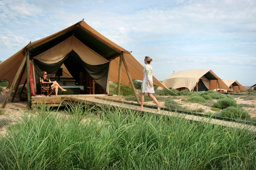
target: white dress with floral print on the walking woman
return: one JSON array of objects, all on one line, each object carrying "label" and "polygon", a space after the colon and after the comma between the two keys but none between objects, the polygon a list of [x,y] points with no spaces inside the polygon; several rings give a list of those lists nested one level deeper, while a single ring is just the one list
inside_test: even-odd
[{"label": "white dress with floral print on the walking woman", "polygon": [[141,84],[141,93],[155,93],[154,88],[149,86],[148,80],[153,86],[153,69],[150,64],[146,64],[143,69],[143,82]]}]

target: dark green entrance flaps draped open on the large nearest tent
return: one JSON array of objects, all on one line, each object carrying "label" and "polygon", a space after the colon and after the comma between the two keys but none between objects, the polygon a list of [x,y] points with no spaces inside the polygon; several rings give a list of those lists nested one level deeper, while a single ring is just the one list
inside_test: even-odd
[{"label": "dark green entrance flaps draped open on the large nearest tent", "polygon": [[77,84],[84,86],[84,94],[88,94],[87,87],[90,87],[90,82],[92,80],[99,85],[98,93],[106,93],[109,62],[100,65],[89,65],[85,63],[73,50],[62,60],[53,64],[46,64],[34,59],[37,91],[40,91],[38,88],[40,88],[39,77],[42,76],[41,72],[47,71],[48,77],[52,77],[59,70],[62,64],[66,66],[68,72],[74,80],[76,80]]}]

